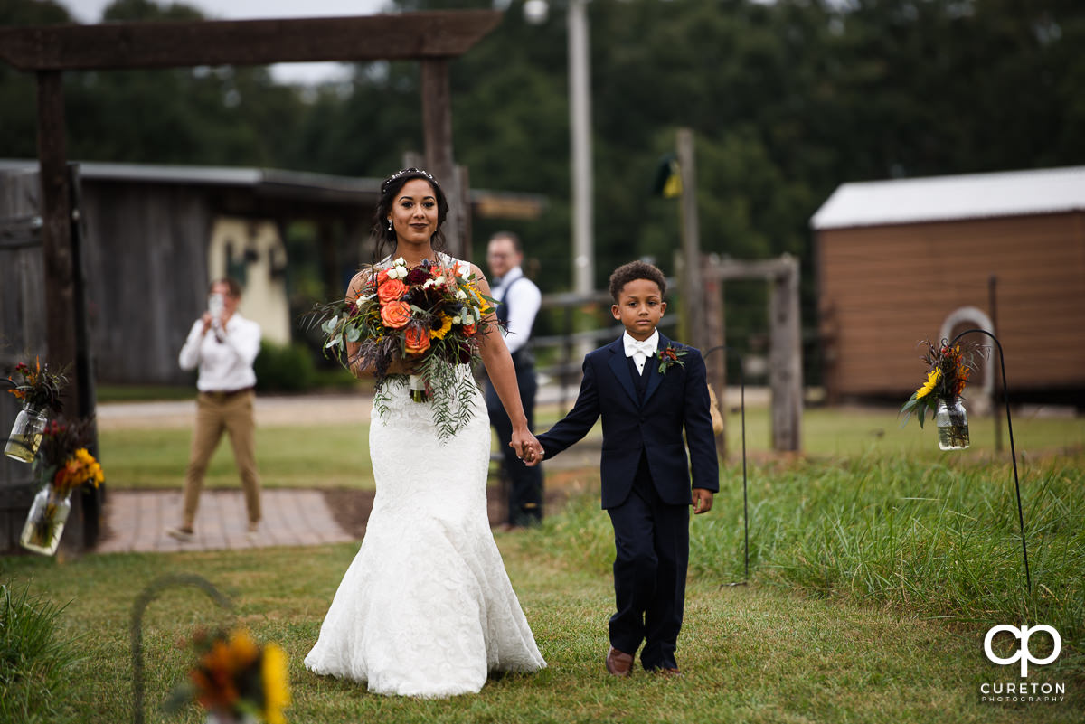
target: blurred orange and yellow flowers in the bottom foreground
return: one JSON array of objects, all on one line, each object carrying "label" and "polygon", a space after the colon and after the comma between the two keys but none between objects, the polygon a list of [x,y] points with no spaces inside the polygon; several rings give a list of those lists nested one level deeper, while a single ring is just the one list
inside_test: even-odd
[{"label": "blurred orange and yellow flowers in the bottom foreground", "polygon": [[282,648],[260,646],[243,630],[197,631],[191,643],[200,659],[166,702],[167,711],[195,699],[210,712],[208,721],[284,724],[290,681]]}]

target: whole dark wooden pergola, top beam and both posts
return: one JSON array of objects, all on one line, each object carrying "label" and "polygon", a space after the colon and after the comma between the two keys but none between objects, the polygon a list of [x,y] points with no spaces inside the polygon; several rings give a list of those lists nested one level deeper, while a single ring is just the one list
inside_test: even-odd
[{"label": "whole dark wooden pergola, top beam and both posts", "polygon": [[255,21],[104,23],[0,28],[0,60],[38,81],[41,241],[46,268],[47,348],[56,364],[76,361],[71,395],[80,415],[93,412],[89,370],[80,360],[77,314],[78,248],[73,248],[72,182],[67,170],[65,70],[110,70],[282,62],[416,60],[422,65],[423,150],[451,210],[446,237],[460,254],[463,209],[452,156],[449,61],[501,20],[497,11],[446,11]]}]

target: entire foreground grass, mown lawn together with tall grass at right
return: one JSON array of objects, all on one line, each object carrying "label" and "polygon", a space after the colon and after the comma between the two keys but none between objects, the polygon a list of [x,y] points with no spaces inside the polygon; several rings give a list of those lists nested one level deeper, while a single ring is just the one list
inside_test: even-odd
[{"label": "entire foreground grass, mown lawn together with tall grass at right", "polygon": [[[354,431],[356,435],[357,431]],[[296,450],[296,449],[295,449]],[[285,453],[283,453],[285,454]],[[295,452],[295,456],[301,453]],[[131,719],[128,626],[156,577],[196,572],[237,603],[235,622],[290,655],[293,722],[1082,722],[1085,721],[1085,453],[1022,463],[1033,591],[1025,591],[1005,462],[910,454],[787,460],[750,469],[751,579],[743,577],[741,468],[725,468],[712,513],[691,523],[682,680],[607,676],[612,540],[589,492],[539,529],[498,534],[549,668],[490,681],[478,696],[385,698],[302,664],[357,546],[0,559],[0,583],[66,608],[60,633],[80,660],[53,722]],[[405,574],[409,574],[406,571]],[[194,590],[163,592],[144,620],[146,691],[183,675],[176,642],[227,620]],[[1065,683],[1057,704],[981,703],[983,682],[1014,682],[982,654],[995,623],[1062,635],[1030,682]],[[1044,642],[1034,639],[1035,656]],[[1000,651],[1006,656],[1008,651]],[[1012,671],[1011,671],[1012,670]],[[2,677],[0,677],[2,678]],[[151,722],[201,722],[190,709]]]}]

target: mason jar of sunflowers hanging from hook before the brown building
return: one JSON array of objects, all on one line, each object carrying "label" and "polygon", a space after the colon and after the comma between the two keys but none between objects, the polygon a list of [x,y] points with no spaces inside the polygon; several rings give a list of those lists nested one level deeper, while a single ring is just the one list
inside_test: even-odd
[{"label": "mason jar of sunflowers hanging from hook before the brown building", "polygon": [[939,345],[930,339],[920,345],[927,346],[920,357],[928,366],[927,382],[901,406],[904,415],[901,424],[907,424],[915,413],[921,428],[924,416],[930,413],[939,430],[939,448],[965,450],[969,447],[968,414],[961,392],[968,376],[975,370],[975,359],[984,357],[987,348],[978,342],[950,345],[945,339]]}]

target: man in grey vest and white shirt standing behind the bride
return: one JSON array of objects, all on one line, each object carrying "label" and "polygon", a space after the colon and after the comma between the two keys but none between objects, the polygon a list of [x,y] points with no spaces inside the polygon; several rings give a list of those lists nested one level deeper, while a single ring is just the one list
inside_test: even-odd
[{"label": "man in grey vest and white shirt standing behind the bride", "polygon": [[[535,392],[538,383],[535,378],[535,359],[528,342],[542,295],[539,288],[524,276],[520,268],[523,259],[524,253],[519,236],[502,231],[490,237],[486,247],[486,264],[493,275],[492,295],[498,301],[497,319],[502,324],[505,344],[509,347],[516,369],[520,401],[524,405],[524,414],[527,415],[527,427],[534,430]],[[509,441],[512,439],[512,423],[489,382],[486,383],[486,408],[489,411],[489,424],[497,431],[505,454],[505,468],[509,480],[509,519],[502,527],[512,529],[537,523],[542,519],[542,468],[538,465],[525,466],[516,458],[515,451],[509,447]]]}]

